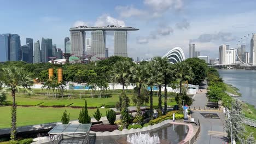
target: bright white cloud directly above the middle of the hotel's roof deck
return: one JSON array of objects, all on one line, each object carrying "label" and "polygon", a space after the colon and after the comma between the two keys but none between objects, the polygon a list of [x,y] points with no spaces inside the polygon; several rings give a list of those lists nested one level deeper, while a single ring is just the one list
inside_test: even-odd
[{"label": "bright white cloud directly above the middle of the hotel's roof deck", "polygon": [[103,14],[98,17],[95,26],[107,26],[107,25],[115,25],[115,26],[125,26],[125,22],[122,20],[115,19],[107,14]]}]

